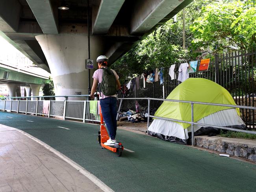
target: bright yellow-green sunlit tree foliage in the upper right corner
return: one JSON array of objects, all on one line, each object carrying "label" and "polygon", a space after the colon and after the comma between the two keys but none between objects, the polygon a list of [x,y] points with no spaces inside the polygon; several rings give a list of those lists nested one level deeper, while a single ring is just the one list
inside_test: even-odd
[{"label": "bright yellow-green sunlit tree foliage in the upper right corner", "polygon": [[230,45],[247,50],[255,46],[256,9],[254,0],[218,0],[202,7],[202,15],[190,26],[193,49],[207,48],[217,52]]}]

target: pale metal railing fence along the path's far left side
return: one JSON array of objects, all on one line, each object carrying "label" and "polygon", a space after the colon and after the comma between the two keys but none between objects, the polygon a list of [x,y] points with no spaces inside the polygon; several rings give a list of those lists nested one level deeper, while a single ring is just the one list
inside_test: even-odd
[{"label": "pale metal railing fence along the path's far left side", "polygon": [[[55,96],[44,96],[55,97]],[[83,122],[100,122],[98,111],[90,113],[90,102],[88,95],[58,96],[65,100],[28,100],[33,97],[12,97],[11,99],[27,100],[0,100],[0,110],[34,115],[44,115],[48,117],[58,117],[65,119],[83,120]],[[69,97],[85,97],[83,101],[69,101]],[[39,97],[34,97],[39,98]],[[5,98],[10,99],[10,98]]]}]

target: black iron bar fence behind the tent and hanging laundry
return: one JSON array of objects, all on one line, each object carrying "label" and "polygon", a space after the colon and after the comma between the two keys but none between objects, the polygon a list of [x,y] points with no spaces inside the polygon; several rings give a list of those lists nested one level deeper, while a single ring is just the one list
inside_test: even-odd
[{"label": "black iron bar fence behind the tent and hanging laundry", "polygon": [[[200,63],[198,63],[198,66]],[[198,67],[197,66],[197,67]],[[139,80],[139,87],[135,87],[130,91],[126,98],[160,98],[165,99],[180,82],[177,79],[171,79],[168,74],[169,69],[165,69],[164,83],[160,85],[160,81],[154,83],[146,83],[143,87],[143,79]],[[178,77],[178,72],[176,72]],[[215,81],[225,89],[227,89],[234,98],[237,105],[245,105],[254,107],[256,104],[256,51],[250,52],[229,52],[227,54],[215,55],[210,62],[207,71],[190,73],[189,78],[205,78]],[[118,98],[124,98],[121,92]],[[146,101],[138,101],[139,110],[147,108]],[[136,110],[136,100],[133,102],[124,100],[122,109]],[[151,108],[157,109],[162,101],[152,100]],[[247,126],[256,127],[256,113],[250,109],[240,109],[241,118]]]}]

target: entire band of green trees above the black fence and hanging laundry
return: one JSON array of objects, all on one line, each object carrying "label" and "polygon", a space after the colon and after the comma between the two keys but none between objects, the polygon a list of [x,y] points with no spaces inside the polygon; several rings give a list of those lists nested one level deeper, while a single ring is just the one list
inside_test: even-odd
[{"label": "entire band of green trees above the black fence and hanging laundry", "polygon": [[[121,82],[144,70],[198,59],[210,48],[207,58],[230,50],[256,46],[255,0],[194,0],[186,7],[186,49],[182,49],[182,11],[177,21],[167,21],[116,61],[112,67]],[[212,58],[213,59],[213,58]],[[211,59],[211,61],[213,61]]]}]

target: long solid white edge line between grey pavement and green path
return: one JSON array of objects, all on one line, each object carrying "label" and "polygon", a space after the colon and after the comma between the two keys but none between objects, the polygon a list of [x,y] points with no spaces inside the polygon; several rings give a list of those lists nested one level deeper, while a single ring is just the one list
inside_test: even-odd
[{"label": "long solid white edge line between grey pavement and green path", "polygon": [[[13,128],[13,127],[12,127]],[[13,128],[15,129],[15,128]],[[35,142],[41,144],[42,146],[44,146],[46,149],[48,149],[49,151],[51,151],[52,153],[54,153],[55,155],[58,155],[58,157],[60,157],[61,159],[63,159],[64,161],[66,161],[67,163],[69,163],[72,167],[74,167],[76,170],[78,170],[81,174],[85,175],[85,177],[87,177],[88,179],[90,179],[93,183],[95,183],[95,185],[97,185],[99,188],[101,188],[104,192],[114,192],[111,188],[109,188],[109,186],[107,186],[105,183],[103,183],[102,181],[100,181],[100,179],[98,179],[97,177],[95,177],[95,175],[91,174],[90,172],[88,172],[87,170],[85,170],[85,168],[83,168],[82,166],[80,166],[79,164],[77,164],[76,162],[72,161],[71,159],[69,159],[69,157],[63,155],[61,152],[55,150],[54,148],[50,147],[49,145],[47,145],[46,143],[44,143],[43,141],[33,137],[32,135],[21,131],[19,129],[16,129],[17,131],[19,131],[20,133],[26,135],[28,138],[33,139]]]}]

